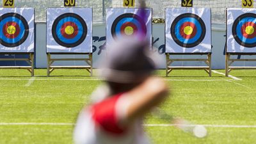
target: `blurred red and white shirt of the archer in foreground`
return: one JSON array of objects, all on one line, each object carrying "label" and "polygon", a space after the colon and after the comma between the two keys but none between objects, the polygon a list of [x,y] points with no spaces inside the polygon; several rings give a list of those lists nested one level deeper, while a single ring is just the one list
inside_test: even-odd
[{"label": "blurred red and white shirt of the archer in foreground", "polygon": [[121,127],[117,122],[116,103],[122,94],[108,97],[83,109],[74,130],[76,144],[149,144],[140,119]]}]

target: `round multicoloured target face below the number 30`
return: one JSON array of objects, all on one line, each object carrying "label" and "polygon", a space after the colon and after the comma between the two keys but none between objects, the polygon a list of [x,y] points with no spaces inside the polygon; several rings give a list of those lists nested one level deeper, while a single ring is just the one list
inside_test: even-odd
[{"label": "round multicoloured target face below the number 30", "polygon": [[86,35],[86,22],[76,13],[64,13],[57,17],[52,24],[52,37],[63,47],[80,45]]}]

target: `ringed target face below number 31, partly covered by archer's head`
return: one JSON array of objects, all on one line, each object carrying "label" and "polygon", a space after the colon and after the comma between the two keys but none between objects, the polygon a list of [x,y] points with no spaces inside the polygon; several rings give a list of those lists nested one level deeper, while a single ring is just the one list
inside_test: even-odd
[{"label": "ringed target face below number 31, partly covered by archer's head", "polygon": [[113,38],[118,39],[122,36],[143,36],[147,35],[147,26],[140,16],[134,13],[125,13],[117,17],[111,27]]}]

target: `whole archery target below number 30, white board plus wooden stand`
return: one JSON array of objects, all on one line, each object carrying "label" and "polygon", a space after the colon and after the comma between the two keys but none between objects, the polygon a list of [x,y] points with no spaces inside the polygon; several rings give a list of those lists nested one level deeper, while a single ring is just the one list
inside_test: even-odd
[{"label": "whole archery target below number 30, white board plus wooden stand", "polygon": [[[82,58],[52,58],[74,54]],[[85,61],[88,65],[55,66],[54,61]],[[47,8],[47,76],[55,69],[92,70],[92,8]]]}]

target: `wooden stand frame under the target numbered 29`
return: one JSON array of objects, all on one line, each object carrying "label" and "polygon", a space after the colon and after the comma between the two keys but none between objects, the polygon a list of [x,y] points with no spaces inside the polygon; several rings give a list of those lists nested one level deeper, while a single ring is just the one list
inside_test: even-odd
[{"label": "wooden stand frame under the target numbered 29", "polygon": [[24,54],[28,55],[29,58],[0,58],[0,61],[26,61],[29,66],[0,66],[1,69],[25,69],[28,70],[31,73],[31,76],[34,76],[34,53],[3,53],[1,52],[0,54]]}]

